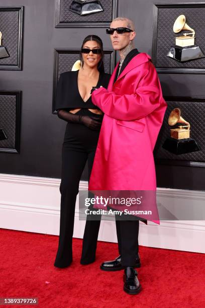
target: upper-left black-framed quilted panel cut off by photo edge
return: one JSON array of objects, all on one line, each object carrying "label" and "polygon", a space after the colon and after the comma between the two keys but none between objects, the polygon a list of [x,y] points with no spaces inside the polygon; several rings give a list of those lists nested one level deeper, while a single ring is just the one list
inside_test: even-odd
[{"label": "upper-left black-framed quilted panel cut off by photo edge", "polygon": [[0,7],[0,70],[22,70],[24,7]]}]

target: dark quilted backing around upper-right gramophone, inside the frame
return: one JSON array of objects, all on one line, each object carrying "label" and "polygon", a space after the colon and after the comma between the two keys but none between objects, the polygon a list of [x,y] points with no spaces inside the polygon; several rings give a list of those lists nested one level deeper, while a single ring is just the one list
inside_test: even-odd
[{"label": "dark quilted backing around upper-right gramophone, inside the frame", "polygon": [[158,8],[156,67],[204,68],[205,58],[178,62],[166,56],[170,47],[175,45],[175,37],[180,33],[173,32],[173,24],[179,15],[185,15],[186,23],[195,30],[195,45],[205,54],[205,5],[201,8]]}]

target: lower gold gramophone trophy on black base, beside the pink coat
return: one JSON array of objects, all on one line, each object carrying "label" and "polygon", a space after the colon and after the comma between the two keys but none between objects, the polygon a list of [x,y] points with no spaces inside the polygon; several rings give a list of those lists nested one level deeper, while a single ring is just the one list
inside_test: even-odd
[{"label": "lower gold gramophone trophy on black base, beside the pink coat", "polygon": [[165,140],[162,147],[176,155],[199,151],[196,141],[190,138],[190,124],[181,117],[181,110],[174,108],[169,115],[168,124],[173,126],[177,123],[186,125],[170,129],[170,137]]}]

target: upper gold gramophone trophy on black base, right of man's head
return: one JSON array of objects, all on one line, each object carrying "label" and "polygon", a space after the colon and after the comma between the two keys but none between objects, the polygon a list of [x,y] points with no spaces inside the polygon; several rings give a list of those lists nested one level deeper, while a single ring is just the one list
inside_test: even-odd
[{"label": "upper gold gramophone trophy on black base, right of man's head", "polygon": [[203,58],[204,54],[200,47],[195,45],[195,31],[187,25],[184,15],[178,16],[173,26],[174,33],[179,33],[182,30],[190,32],[175,37],[175,46],[171,46],[167,56],[179,62]]}]

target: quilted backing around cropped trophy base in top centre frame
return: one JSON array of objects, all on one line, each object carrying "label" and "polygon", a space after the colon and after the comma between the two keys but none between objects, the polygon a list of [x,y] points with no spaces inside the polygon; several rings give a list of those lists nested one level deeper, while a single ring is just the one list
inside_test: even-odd
[{"label": "quilted backing around cropped trophy base in top centre frame", "polygon": [[69,11],[72,0],[60,1],[60,23],[110,23],[113,17],[113,5],[115,0],[100,0],[103,12],[80,16]]}]

